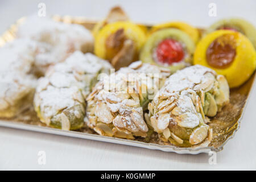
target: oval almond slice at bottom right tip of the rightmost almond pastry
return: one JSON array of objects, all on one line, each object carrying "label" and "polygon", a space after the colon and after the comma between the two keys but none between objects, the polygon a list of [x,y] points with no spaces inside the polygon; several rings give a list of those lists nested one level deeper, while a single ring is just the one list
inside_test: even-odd
[{"label": "oval almond slice at bottom right tip of the rightmost almond pastry", "polygon": [[201,126],[195,129],[189,137],[189,143],[198,144],[203,142],[208,135],[209,126]]}]

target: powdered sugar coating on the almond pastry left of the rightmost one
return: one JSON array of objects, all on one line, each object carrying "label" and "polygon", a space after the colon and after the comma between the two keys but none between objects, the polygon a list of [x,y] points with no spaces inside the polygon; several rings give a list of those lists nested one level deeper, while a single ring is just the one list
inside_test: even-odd
[{"label": "powdered sugar coating on the almond pastry left of the rightmost one", "polygon": [[[143,120],[142,104],[150,99],[147,98],[148,90],[158,89],[158,82],[155,82],[154,79],[164,80],[166,73],[162,73],[160,68],[155,65],[137,61],[129,67],[121,68],[105,77],[105,80],[97,84],[103,85],[104,89],[98,89],[96,85],[92,92],[94,96],[90,95],[89,97],[88,122],[95,118],[94,115],[98,113],[97,107],[93,109],[95,105],[104,103],[108,107],[107,110],[115,116],[113,119],[114,126],[110,126],[112,129],[118,129],[120,133],[124,132],[125,136],[135,134],[146,137],[148,127]],[[146,90],[142,90],[143,87]],[[89,123],[90,127],[96,127],[96,131],[98,131],[97,122],[101,122],[100,119]]]}]

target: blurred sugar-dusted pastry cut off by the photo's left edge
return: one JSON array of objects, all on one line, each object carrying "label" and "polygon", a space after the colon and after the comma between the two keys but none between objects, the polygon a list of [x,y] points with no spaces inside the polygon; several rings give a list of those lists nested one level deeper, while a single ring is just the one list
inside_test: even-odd
[{"label": "blurred sugar-dusted pastry cut off by the photo's left edge", "polygon": [[31,106],[36,78],[30,72],[36,43],[17,39],[0,48],[0,118],[13,118]]}]

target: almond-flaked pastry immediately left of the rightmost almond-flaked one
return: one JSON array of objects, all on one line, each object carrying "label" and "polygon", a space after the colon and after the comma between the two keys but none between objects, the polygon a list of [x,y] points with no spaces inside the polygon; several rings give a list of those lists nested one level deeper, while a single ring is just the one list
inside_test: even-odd
[{"label": "almond-flaked pastry immediately left of the rightmost almond-flaked one", "polygon": [[165,69],[137,61],[105,77],[86,98],[86,124],[100,135],[146,137],[143,110],[168,75]]}]

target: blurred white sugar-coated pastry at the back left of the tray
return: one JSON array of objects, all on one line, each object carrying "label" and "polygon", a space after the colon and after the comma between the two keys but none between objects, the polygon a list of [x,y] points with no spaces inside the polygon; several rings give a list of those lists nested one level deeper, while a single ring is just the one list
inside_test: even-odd
[{"label": "blurred white sugar-coated pastry at the back left of the tray", "polygon": [[65,24],[38,16],[29,16],[18,31],[17,38],[30,38],[40,45],[35,57],[35,72],[43,76],[49,65],[64,61],[76,50],[92,52],[94,38],[79,24]]}]

